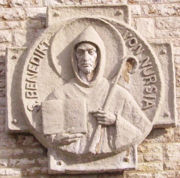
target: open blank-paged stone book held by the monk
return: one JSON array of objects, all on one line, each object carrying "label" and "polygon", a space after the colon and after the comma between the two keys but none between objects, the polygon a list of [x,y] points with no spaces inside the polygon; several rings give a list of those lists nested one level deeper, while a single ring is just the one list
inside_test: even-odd
[{"label": "open blank-paged stone book held by the monk", "polygon": [[82,98],[45,101],[42,115],[44,134],[87,132],[86,105]]}]

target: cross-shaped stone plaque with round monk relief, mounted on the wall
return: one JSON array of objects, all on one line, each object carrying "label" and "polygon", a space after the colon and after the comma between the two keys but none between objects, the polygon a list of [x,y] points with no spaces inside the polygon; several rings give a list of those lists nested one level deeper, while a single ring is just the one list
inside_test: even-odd
[{"label": "cross-shaped stone plaque with round monk relief, mounted on the wall", "polygon": [[[50,9],[52,22],[18,62],[8,50],[7,128],[28,130],[48,149],[49,173],[135,168],[136,147],[154,125],[175,124],[175,104],[167,100],[175,98],[172,49],[132,29],[127,6],[76,8]],[[159,56],[161,48],[168,54]]]}]

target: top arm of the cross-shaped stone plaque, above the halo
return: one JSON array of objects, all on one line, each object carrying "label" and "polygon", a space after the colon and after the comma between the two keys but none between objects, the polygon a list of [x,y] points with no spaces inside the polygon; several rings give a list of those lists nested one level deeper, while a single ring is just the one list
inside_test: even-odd
[{"label": "top arm of the cross-shaped stone plaque, above the halo", "polygon": [[[68,11],[67,11],[68,9]],[[130,23],[130,12],[126,5],[112,5],[112,6],[78,6],[76,7],[61,7],[48,8],[47,26],[60,22],[63,18],[74,18],[79,16],[103,16],[114,18],[118,21]],[[96,18],[96,17],[95,17]]]}]

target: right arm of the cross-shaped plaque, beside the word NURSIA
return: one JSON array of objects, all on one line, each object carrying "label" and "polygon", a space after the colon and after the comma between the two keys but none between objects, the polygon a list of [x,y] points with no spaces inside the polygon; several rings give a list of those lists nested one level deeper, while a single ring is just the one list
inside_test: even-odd
[{"label": "right arm of the cross-shaped plaque, beside the word NURSIA", "polygon": [[[154,127],[175,126],[177,124],[176,113],[176,89],[173,48],[165,42],[152,43],[153,49],[161,63],[164,78],[164,101],[161,105],[159,118]],[[171,67],[170,67],[171,66]],[[171,70],[169,70],[171,68]],[[173,98],[173,99],[172,99]]]}]

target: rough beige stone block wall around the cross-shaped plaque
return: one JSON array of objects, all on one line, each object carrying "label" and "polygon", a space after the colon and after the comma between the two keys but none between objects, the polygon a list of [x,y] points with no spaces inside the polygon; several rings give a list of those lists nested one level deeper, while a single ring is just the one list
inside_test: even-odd
[{"label": "rough beige stone block wall around the cross-shaped plaque", "polygon": [[[28,134],[5,132],[5,51],[29,46],[43,31],[46,8],[59,5],[118,4],[126,0],[0,0],[0,177],[180,178],[180,127],[156,129],[138,147],[136,171],[120,174],[49,176],[46,149]],[[128,0],[132,26],[147,39],[174,46],[177,111],[180,112],[180,0]],[[180,120],[178,122],[180,124]]]}]

